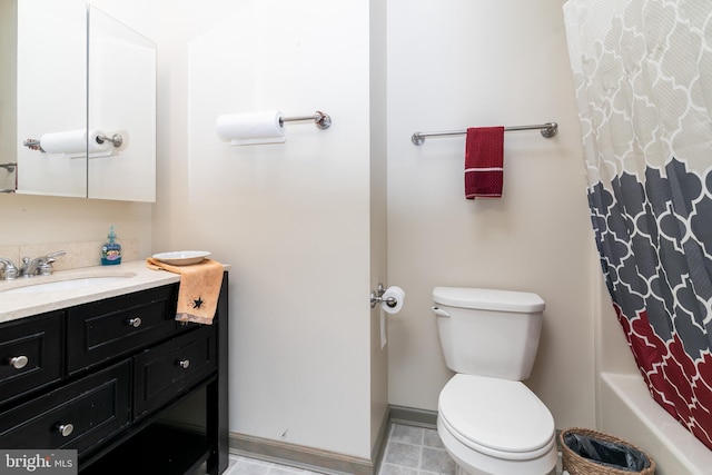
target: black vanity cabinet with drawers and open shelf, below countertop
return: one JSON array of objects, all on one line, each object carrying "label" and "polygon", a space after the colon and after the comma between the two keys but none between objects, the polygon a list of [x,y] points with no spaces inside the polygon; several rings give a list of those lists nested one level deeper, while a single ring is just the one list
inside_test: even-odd
[{"label": "black vanity cabinet with drawers and open shelf, below countertop", "polygon": [[[225,472],[227,287],[212,325],[175,320],[178,284],[0,324],[0,448],[76,449],[81,474]],[[204,424],[176,419],[188,399]]]}]

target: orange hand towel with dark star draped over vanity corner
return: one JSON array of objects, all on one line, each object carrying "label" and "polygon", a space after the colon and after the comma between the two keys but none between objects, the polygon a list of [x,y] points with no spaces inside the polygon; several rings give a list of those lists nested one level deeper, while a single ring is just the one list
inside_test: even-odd
[{"label": "orange hand towel with dark star draped over vanity corner", "polygon": [[204,259],[190,266],[171,266],[149,257],[146,259],[146,267],[180,274],[176,320],[212,325],[222,285],[222,264]]}]

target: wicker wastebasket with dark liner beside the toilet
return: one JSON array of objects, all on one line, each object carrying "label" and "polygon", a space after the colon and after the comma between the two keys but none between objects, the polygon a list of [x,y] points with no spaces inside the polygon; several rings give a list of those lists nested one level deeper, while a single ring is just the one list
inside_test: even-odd
[{"label": "wicker wastebasket with dark liner beside the toilet", "polygon": [[[566,445],[566,443],[564,442],[564,436],[567,434],[583,435],[586,437],[591,437],[594,441],[612,443],[612,444],[624,446],[624,447],[631,447],[640,452],[640,455],[644,459],[646,459],[649,464],[645,464],[646,467],[640,472],[632,472],[630,469],[615,468],[613,466],[604,465],[600,462],[594,462],[592,459],[585,458],[576,454]],[[645,452],[643,452],[640,447],[636,447],[635,445],[629,442],[622,441],[617,437],[613,437],[612,435],[604,434],[597,431],[587,429],[587,428],[572,427],[565,431],[562,431],[562,433],[558,435],[558,439],[561,443],[564,469],[568,471],[571,475],[632,475],[632,474],[652,475],[655,473],[655,462]]]}]

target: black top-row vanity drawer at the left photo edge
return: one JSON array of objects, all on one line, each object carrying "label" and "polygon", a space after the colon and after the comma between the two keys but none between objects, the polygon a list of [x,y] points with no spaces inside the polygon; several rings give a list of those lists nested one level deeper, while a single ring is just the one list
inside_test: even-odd
[{"label": "black top-row vanity drawer at the left photo edge", "polygon": [[0,333],[0,394],[6,403],[62,374],[62,313],[4,324]]}]

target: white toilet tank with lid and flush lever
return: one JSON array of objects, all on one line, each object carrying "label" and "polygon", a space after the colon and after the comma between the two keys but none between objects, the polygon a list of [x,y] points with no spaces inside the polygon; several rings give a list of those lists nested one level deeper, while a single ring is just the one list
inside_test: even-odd
[{"label": "white toilet tank with lid and flush lever", "polygon": [[448,368],[512,380],[530,377],[545,307],[538,295],[435,287],[433,301]]}]

